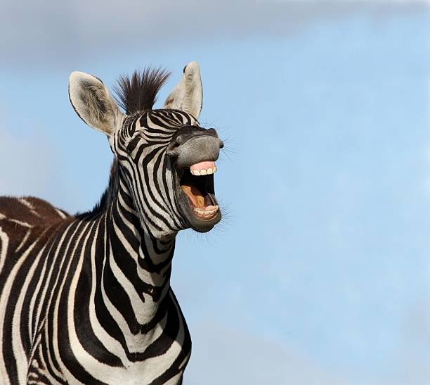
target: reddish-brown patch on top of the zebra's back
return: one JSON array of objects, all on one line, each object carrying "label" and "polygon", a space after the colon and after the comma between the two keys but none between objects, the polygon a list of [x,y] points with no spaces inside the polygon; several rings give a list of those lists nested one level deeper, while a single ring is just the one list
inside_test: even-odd
[{"label": "reddish-brown patch on top of the zebra's back", "polygon": [[70,218],[70,215],[64,210],[34,196],[0,196],[0,221],[13,221],[33,227],[51,225],[67,218]]}]

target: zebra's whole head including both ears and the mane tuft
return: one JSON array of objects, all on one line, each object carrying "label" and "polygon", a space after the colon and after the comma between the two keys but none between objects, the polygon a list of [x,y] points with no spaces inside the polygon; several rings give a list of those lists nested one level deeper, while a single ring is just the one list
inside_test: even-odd
[{"label": "zebra's whole head including both ears and the mane tuft", "polygon": [[69,95],[87,125],[107,135],[134,208],[151,236],[178,230],[209,231],[221,220],[214,194],[215,160],[223,142],[216,130],[197,121],[202,83],[197,63],[183,77],[164,108],[152,110],[156,94],[169,74],[163,70],[134,72],[118,82],[117,101],[96,77],[72,72]]}]

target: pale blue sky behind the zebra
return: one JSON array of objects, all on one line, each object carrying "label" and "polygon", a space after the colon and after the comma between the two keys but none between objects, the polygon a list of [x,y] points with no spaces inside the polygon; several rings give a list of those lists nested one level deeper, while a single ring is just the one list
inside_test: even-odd
[{"label": "pale blue sky behind the zebra", "polygon": [[228,215],[210,234],[178,236],[185,384],[430,384],[426,4],[141,5],[141,31],[124,17],[92,26],[92,8],[67,8],[59,25],[50,4],[45,18],[13,6],[0,16],[31,19],[0,44],[0,194],[70,212],[100,197],[110,150],[69,104],[72,70],[111,87],[164,65],[174,73],[161,105],[183,65],[200,63],[200,120],[226,138],[216,189]]}]

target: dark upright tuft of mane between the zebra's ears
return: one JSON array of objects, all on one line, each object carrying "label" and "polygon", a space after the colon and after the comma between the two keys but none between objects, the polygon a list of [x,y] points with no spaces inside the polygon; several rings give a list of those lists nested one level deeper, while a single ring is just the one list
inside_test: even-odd
[{"label": "dark upright tuft of mane between the zebra's ears", "polygon": [[150,110],[157,101],[157,92],[170,76],[162,68],[144,68],[135,70],[133,75],[122,75],[115,91],[115,101],[127,115]]}]

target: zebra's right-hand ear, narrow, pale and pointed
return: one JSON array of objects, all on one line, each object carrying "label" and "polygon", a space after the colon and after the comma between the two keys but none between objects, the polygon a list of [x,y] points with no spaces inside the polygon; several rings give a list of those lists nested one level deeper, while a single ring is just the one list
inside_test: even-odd
[{"label": "zebra's right-hand ear, narrow, pale and pointed", "polygon": [[202,110],[202,96],[200,68],[196,61],[192,61],[183,68],[183,77],[167,97],[164,108],[181,110],[197,119]]}]

